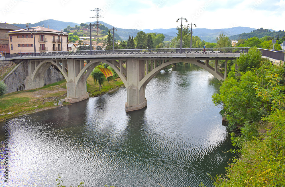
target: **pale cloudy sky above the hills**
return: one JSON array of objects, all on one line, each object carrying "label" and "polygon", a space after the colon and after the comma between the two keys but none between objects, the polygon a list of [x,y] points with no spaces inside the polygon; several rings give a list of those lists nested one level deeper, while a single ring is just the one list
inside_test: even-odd
[{"label": "pale cloudy sky above the hills", "polygon": [[96,8],[101,9],[99,21],[123,29],[176,28],[181,17],[196,28],[285,29],[285,0],[5,0],[0,5],[0,22],[93,23]]}]

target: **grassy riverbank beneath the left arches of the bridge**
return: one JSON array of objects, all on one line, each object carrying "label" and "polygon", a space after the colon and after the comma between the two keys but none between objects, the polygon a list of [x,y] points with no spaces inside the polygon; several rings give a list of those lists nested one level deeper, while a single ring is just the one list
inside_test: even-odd
[{"label": "grassy riverbank beneath the left arches of the bridge", "polygon": [[[99,92],[99,85],[94,85],[94,80],[89,76],[87,79],[87,92],[89,97],[98,96],[123,86],[120,78],[105,82]],[[37,111],[59,107],[60,99],[66,97],[66,80],[46,85],[33,90],[23,90],[5,94],[0,97],[0,121],[4,118],[12,118],[20,115],[27,115]],[[63,105],[69,105],[63,102]]]}]

